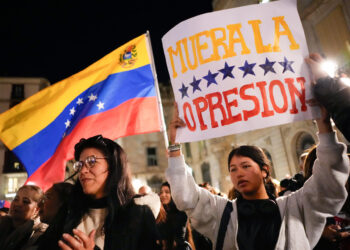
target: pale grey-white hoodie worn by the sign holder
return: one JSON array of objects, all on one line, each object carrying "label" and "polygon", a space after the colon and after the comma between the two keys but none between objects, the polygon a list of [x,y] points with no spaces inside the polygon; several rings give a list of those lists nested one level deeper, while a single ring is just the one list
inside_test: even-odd
[{"label": "pale grey-white hoodie worn by the sign holder", "polygon": [[[349,159],[335,132],[319,134],[313,176],[304,187],[277,198],[281,228],[275,249],[312,249],[321,237],[326,218],[335,215],[345,202]],[[192,226],[216,246],[219,226],[227,199],[198,187],[183,156],[169,157],[166,177],[176,207],[185,211]],[[227,226],[223,249],[238,249],[236,200]]]}]

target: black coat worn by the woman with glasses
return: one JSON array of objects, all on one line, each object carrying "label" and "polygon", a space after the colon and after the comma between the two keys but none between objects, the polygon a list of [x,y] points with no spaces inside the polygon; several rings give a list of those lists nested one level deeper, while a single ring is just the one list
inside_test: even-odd
[{"label": "black coat worn by the woman with glasses", "polygon": [[[59,249],[58,240],[64,232],[72,234],[72,230],[80,224],[79,217],[68,212],[65,219],[60,220],[61,225],[50,225],[56,229],[39,239],[39,249]],[[156,222],[151,209],[146,205],[137,205],[132,200],[127,206],[118,209],[112,230],[105,235],[104,249],[157,250],[159,246],[156,241]]]}]

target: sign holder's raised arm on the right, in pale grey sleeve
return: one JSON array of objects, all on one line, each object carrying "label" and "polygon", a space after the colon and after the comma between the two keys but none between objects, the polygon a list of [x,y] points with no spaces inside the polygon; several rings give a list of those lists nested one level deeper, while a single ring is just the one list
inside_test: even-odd
[{"label": "sign holder's raised arm on the right, in pale grey sleeve", "polygon": [[[319,71],[311,69],[317,79]],[[326,218],[339,212],[344,204],[347,197],[345,183],[349,177],[345,144],[338,141],[326,109],[321,107],[321,111],[321,117],[316,120],[319,143],[312,176],[303,188],[291,195],[303,215],[302,222],[312,247],[322,233]]]}]

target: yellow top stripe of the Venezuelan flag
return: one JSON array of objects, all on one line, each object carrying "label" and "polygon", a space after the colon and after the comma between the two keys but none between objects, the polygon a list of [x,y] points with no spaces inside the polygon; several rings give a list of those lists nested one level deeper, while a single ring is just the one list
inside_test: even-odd
[{"label": "yellow top stripe of the Venezuelan flag", "polygon": [[[122,67],[119,58],[132,45],[137,46],[137,60],[131,67]],[[146,35],[141,35],[112,51],[79,73],[68,77],[24,100],[0,115],[0,138],[14,149],[46,126],[89,87],[109,75],[150,64]]]}]

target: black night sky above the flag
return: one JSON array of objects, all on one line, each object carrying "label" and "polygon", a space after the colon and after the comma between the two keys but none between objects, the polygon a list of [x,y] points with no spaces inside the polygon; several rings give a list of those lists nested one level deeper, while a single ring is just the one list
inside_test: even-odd
[{"label": "black night sky above the flag", "polygon": [[0,76],[45,77],[53,84],[149,30],[158,80],[165,82],[162,36],[210,11],[211,0],[2,1]]}]

